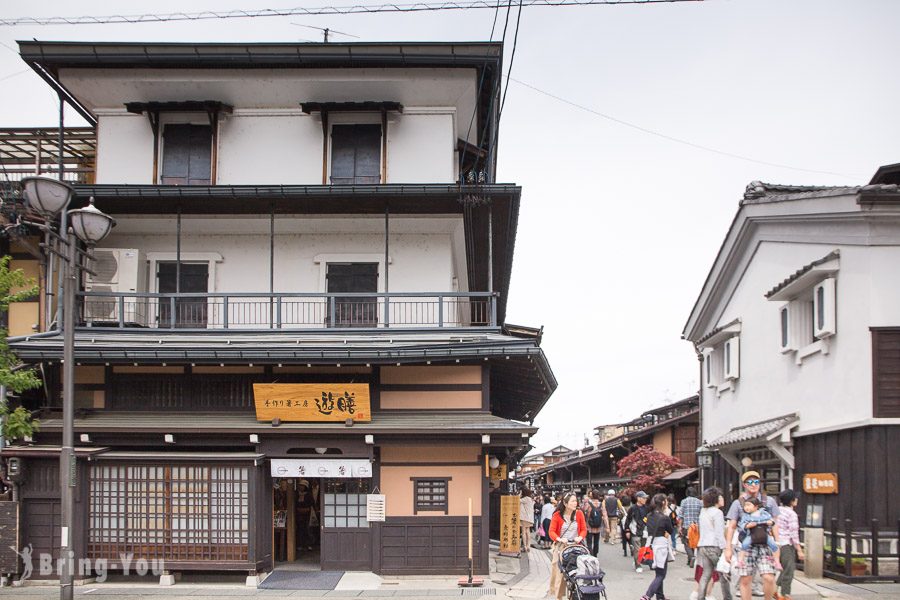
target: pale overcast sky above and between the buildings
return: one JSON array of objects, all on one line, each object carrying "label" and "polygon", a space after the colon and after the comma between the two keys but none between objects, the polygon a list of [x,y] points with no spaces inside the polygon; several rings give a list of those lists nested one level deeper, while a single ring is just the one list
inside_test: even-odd
[{"label": "pale overcast sky above and between the buildings", "polygon": [[[113,5],[135,14],[328,3]],[[110,5],[4,1],[0,16],[108,15]],[[334,41],[483,41],[493,17],[493,10],[469,10],[0,27],[0,127],[57,123],[56,95],[24,72],[18,39],[321,40],[315,29],[292,25],[300,23],[358,36]],[[577,447],[596,425],[696,392],[697,360],[680,334],[747,183],[855,185],[879,165],[900,162],[897,23],[896,0],[523,11],[514,79],[645,130],[753,159],[654,136],[510,83],[498,181],[522,185],[523,195],[507,320],[545,327],[543,348],[559,380],[536,421],[539,450]],[[80,124],[69,111],[67,125]]]}]

